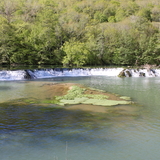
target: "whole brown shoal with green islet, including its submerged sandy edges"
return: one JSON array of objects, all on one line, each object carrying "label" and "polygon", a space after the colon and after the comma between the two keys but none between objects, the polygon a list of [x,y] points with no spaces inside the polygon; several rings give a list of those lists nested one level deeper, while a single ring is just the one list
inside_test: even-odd
[{"label": "whole brown shoal with green islet, including its submerged sandy edges", "polygon": [[[28,82],[30,83],[30,82]],[[132,116],[137,113],[130,97],[120,96],[75,83],[32,82],[39,89],[38,97],[21,98],[8,102],[8,105],[52,108],[52,110],[74,110],[106,113],[108,116]],[[119,108],[121,107],[121,108]],[[127,110],[130,107],[131,111]]]}]

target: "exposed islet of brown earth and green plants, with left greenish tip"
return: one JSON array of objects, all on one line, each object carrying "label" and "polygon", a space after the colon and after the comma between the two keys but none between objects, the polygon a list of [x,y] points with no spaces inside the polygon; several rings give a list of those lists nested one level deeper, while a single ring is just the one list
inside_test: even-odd
[{"label": "exposed islet of brown earth and green plants, with left greenish tip", "polygon": [[[130,97],[118,96],[105,91],[87,88],[78,84],[52,84],[43,85],[44,91],[48,89],[51,95],[42,96],[41,98],[21,99],[20,102],[25,104],[41,105],[94,105],[94,106],[115,106],[119,104],[130,104]],[[46,91],[47,92],[47,91]],[[45,92],[44,92],[45,94]],[[46,93],[48,95],[48,93]],[[45,95],[46,95],[45,94]]]}]

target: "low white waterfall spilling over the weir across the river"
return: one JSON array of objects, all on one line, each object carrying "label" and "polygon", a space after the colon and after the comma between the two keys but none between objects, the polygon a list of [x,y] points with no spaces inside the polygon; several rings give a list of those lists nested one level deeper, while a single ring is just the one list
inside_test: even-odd
[{"label": "low white waterfall spilling over the weir across the river", "polygon": [[160,69],[124,68],[54,68],[34,70],[1,70],[0,81],[77,76],[160,77]]}]

